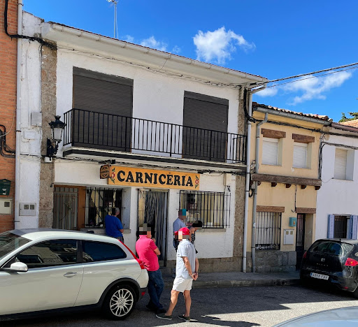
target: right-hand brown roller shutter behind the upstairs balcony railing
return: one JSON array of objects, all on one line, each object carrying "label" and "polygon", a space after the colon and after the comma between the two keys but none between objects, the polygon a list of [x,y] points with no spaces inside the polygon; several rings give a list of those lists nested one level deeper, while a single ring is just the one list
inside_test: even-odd
[{"label": "right-hand brown roller shutter behind the upstairs balcony railing", "polygon": [[182,154],[185,158],[225,161],[229,100],[184,94]]}]

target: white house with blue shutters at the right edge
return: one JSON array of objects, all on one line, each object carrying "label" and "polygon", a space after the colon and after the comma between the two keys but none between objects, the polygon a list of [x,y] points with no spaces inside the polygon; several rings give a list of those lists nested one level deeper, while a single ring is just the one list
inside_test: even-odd
[{"label": "white house with blue shutters at the right edge", "polygon": [[329,132],[337,135],[322,136],[315,239],[357,239],[358,129],[332,123]]}]

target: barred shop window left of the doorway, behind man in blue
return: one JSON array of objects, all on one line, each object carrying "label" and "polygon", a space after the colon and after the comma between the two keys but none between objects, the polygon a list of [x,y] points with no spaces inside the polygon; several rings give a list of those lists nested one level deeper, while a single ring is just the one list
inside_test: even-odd
[{"label": "barred shop window left of the doorway, behind man in blue", "polygon": [[118,218],[124,228],[129,228],[129,217],[124,217],[122,189],[89,187],[86,190],[86,227],[104,228],[104,218],[112,208],[120,208]]}]

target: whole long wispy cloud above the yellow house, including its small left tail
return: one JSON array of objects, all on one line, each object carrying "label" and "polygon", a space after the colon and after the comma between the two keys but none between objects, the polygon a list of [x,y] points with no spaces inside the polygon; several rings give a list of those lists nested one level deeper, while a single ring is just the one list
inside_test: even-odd
[{"label": "whole long wispy cloud above the yellow house, including its small left tail", "polygon": [[275,96],[278,92],[281,94],[298,93],[300,95],[294,96],[294,98],[288,103],[291,106],[295,106],[296,104],[303,103],[304,101],[326,99],[325,93],[329,92],[334,87],[340,87],[343,82],[351,77],[352,73],[347,71],[340,71],[324,77],[307,75],[296,79],[294,82],[290,82],[289,84],[269,87],[268,89],[266,88],[261,92],[257,92],[257,96]]}]

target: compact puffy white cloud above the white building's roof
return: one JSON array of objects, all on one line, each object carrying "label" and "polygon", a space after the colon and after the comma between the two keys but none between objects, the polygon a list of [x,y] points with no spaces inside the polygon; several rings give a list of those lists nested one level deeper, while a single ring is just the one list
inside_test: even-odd
[{"label": "compact puffy white cloud above the white building's roof", "polygon": [[245,51],[255,49],[254,43],[249,43],[242,35],[234,33],[231,29],[226,31],[225,27],[205,33],[198,31],[193,39],[197,59],[217,61],[218,64],[224,64],[227,59],[231,59],[231,53],[236,51],[236,45]]}]

